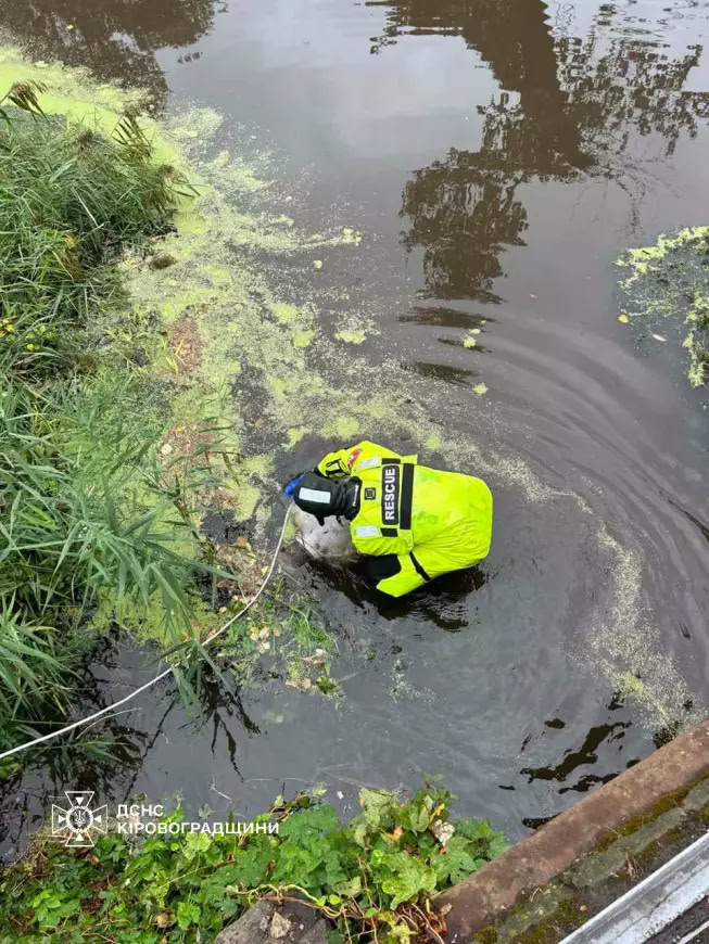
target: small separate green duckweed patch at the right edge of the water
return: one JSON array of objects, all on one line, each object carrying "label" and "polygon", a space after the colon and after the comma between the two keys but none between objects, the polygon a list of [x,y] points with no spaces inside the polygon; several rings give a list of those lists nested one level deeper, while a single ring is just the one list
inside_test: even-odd
[{"label": "small separate green duckweed patch at the right edge of the water", "polygon": [[686,352],[686,374],[693,387],[709,379],[709,227],[686,227],[660,234],[654,246],[630,248],[616,260],[630,273],[619,285],[628,297],[630,319],[651,324],[671,318]]}]

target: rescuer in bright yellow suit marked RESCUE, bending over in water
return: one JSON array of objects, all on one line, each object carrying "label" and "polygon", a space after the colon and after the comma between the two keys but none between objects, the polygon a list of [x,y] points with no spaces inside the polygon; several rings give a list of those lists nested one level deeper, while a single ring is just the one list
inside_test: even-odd
[{"label": "rescuer in bright yellow suit marked RESCUE, bending over in water", "polygon": [[330,514],[349,521],[369,576],[392,597],[471,567],[490,550],[492,494],[481,479],[374,443],[329,452],[283,492],[320,524]]}]

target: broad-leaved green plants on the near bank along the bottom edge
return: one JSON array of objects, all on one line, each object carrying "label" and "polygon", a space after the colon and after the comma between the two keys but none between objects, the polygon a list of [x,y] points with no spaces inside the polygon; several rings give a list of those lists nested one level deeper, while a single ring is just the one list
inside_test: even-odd
[{"label": "broad-leaved green plants on the near bank along the bottom edge", "polygon": [[256,817],[278,834],[181,833],[177,809],[163,820],[172,833],[142,843],[112,832],[91,850],[37,841],[0,871],[0,944],[212,941],[262,898],[307,902],[332,942],[443,940],[431,901],[505,849],[486,821],[448,822],[453,799],[432,783],[408,801],[363,790],[362,813],[343,826],[299,794]]}]

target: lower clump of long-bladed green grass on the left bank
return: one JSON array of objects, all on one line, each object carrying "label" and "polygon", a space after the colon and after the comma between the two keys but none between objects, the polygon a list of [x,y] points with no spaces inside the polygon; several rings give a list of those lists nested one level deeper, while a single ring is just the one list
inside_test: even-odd
[{"label": "lower clump of long-bladed green grass on the left bank", "polygon": [[67,711],[106,592],[124,609],[157,596],[169,625],[190,626],[195,563],[177,544],[190,537],[177,507],[199,463],[187,485],[167,484],[150,439],[136,443],[115,411],[104,419],[0,381],[0,750]]}]

